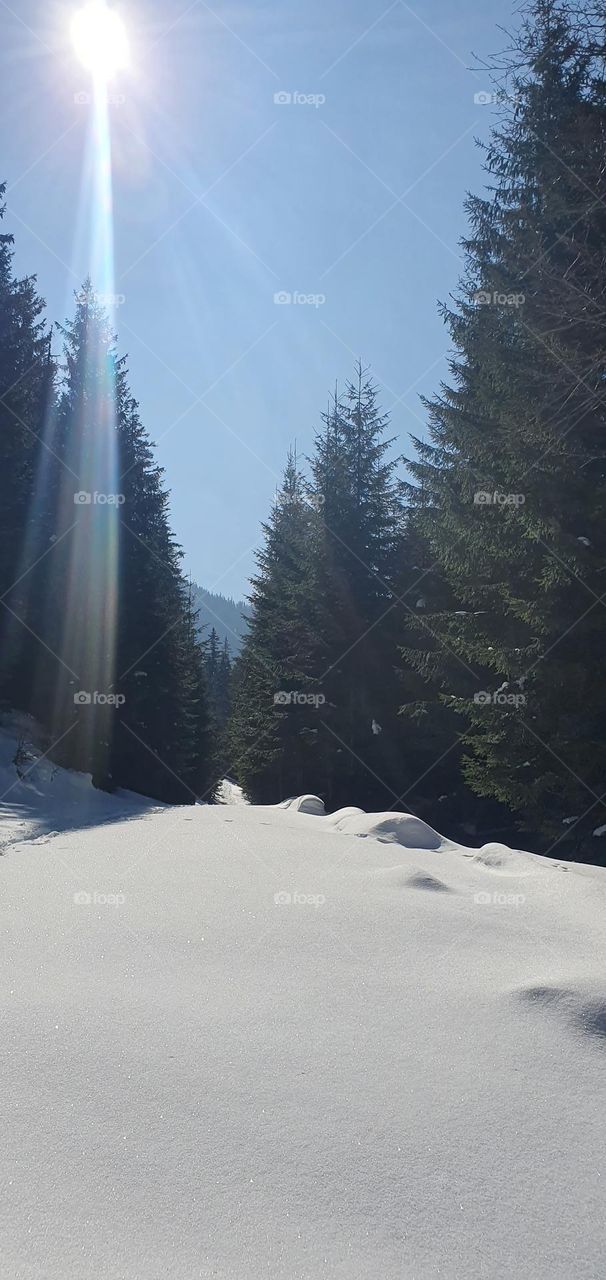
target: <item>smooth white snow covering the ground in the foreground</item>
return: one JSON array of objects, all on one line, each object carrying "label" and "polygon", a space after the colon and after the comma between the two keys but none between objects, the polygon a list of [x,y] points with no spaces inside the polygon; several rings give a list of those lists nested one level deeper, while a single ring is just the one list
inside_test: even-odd
[{"label": "smooth white snow covering the ground in the foreground", "polygon": [[3,1277],[602,1280],[605,870],[95,803],[0,859]]}]

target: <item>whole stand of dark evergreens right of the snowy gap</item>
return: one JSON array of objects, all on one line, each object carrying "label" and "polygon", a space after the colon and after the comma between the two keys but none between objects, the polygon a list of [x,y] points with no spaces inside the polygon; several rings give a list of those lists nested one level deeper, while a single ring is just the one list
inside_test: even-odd
[{"label": "whole stand of dark evergreens right of the snowy gap", "polygon": [[361,369],[305,474],[288,458],[229,728],[254,800],[311,790],[461,835],[466,813],[601,858],[605,19],[534,0],[498,63],[450,379],[409,479]]}]

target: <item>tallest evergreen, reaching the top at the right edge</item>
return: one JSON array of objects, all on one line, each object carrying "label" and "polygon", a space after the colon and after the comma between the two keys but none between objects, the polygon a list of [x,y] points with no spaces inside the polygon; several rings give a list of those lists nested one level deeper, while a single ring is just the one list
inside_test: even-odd
[{"label": "tallest evergreen, reaching the top at the right edge", "polygon": [[411,466],[419,527],[460,604],[436,630],[491,673],[452,690],[466,777],[573,854],[605,820],[602,54],[571,5],[530,5],[445,308],[454,385],[429,403]]}]

